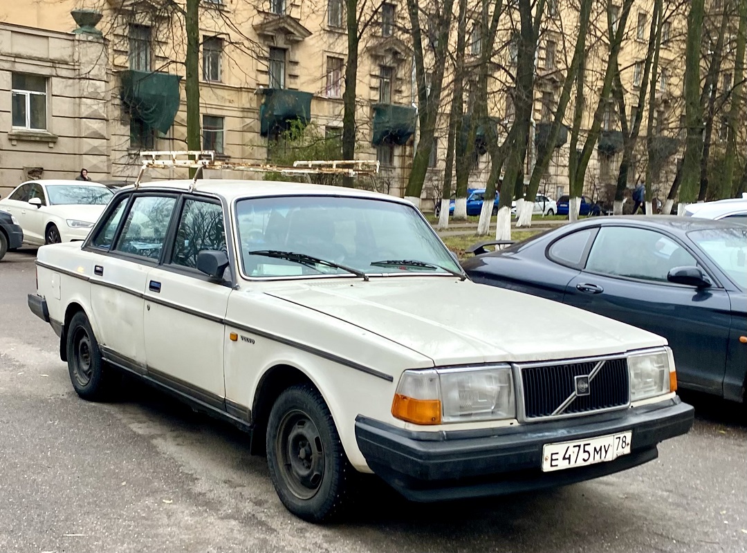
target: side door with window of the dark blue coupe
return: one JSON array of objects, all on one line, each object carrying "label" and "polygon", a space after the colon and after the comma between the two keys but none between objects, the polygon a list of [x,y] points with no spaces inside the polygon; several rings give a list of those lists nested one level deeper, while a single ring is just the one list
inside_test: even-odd
[{"label": "side door with window of the dark blue coupe", "polygon": [[669,270],[698,261],[676,237],[652,229],[603,226],[564,302],[659,334],[687,387],[722,393],[730,301],[714,285],[667,281]]}]

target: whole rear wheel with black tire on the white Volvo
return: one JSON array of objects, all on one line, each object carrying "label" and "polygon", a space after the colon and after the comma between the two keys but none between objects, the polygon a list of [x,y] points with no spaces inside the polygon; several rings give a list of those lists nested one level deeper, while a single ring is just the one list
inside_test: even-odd
[{"label": "whole rear wheel with black tire on the white Volvo", "polygon": [[78,396],[91,402],[107,399],[111,369],[104,363],[88,317],[78,311],[67,326],[67,369],[72,387]]}]

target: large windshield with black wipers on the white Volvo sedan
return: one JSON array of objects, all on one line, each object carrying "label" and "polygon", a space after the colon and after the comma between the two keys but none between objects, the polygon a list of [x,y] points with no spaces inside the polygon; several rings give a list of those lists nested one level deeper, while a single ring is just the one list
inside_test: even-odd
[{"label": "large windshield with black wipers on the white Volvo sedan", "polygon": [[350,269],[367,275],[462,273],[417,210],[394,201],[244,199],[236,203],[236,220],[244,274],[252,278],[350,275]]}]

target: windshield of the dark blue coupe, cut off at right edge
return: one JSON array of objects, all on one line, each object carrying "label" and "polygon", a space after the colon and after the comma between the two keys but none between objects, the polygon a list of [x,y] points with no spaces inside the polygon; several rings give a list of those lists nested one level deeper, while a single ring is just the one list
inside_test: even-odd
[{"label": "windshield of the dark blue coupe, cut off at right edge", "polygon": [[747,228],[708,228],[687,236],[734,282],[747,288]]}]

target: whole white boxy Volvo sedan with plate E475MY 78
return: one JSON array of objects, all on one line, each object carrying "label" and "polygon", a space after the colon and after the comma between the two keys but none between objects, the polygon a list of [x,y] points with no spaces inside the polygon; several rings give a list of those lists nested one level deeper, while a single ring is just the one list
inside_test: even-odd
[{"label": "whole white boxy Volvo sedan with plate E475MY 78", "polygon": [[692,425],[666,340],[475,284],[404,200],[190,184],[123,189],[84,243],[40,248],[29,307],[79,396],[123,371],[244,428],[303,519],[341,513],[356,472],[418,501],[515,493]]}]

